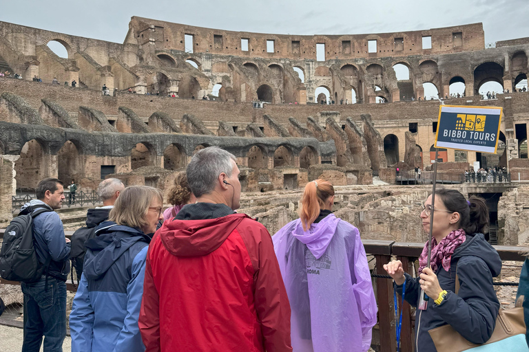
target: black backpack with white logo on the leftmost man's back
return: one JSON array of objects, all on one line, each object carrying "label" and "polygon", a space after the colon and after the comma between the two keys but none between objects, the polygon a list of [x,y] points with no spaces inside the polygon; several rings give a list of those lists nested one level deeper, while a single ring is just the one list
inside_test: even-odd
[{"label": "black backpack with white logo on the leftmost man's back", "polygon": [[0,250],[2,278],[23,283],[32,283],[41,278],[44,270],[50,265],[51,256],[48,256],[44,265],[39,263],[33,244],[33,219],[43,212],[52,211],[46,206],[29,206],[12,219],[3,234]]}]

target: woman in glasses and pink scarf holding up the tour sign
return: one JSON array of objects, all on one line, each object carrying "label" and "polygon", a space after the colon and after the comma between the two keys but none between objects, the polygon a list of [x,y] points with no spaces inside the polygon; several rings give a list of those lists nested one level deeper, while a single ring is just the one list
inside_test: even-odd
[{"label": "woman in glasses and pink scarf holding up the tour sign", "polygon": [[[431,261],[428,242],[419,257],[419,277],[404,273],[400,261],[384,269],[393,278],[393,288],[413,307],[419,305],[421,289],[429,300],[427,309],[417,309],[415,339],[417,351],[436,351],[428,330],[450,325],[466,340],[483,344],[494,331],[499,311],[492,277],[501,271],[501,259],[483,232],[488,227],[488,208],[484,199],[472,196],[467,201],[457,190],[441,189],[424,202],[421,212],[425,232],[430,230],[434,212]],[[455,294],[456,274],[459,292]]]}]

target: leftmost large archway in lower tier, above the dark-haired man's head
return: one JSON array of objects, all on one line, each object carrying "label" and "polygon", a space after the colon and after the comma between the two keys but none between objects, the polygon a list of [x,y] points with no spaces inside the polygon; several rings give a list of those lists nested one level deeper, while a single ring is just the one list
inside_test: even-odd
[{"label": "leftmost large archway in lower tier, above the dark-haired man's head", "polygon": [[49,152],[48,144],[43,140],[25,142],[20,151],[20,158],[14,162],[17,189],[34,191],[39,181],[48,176],[46,163],[49,159],[45,156],[49,155]]}]

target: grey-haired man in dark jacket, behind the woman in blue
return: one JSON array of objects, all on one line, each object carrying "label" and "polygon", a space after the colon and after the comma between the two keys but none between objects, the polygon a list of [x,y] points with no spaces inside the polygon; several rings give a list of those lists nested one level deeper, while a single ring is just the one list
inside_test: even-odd
[{"label": "grey-haired man in dark jacket, behind the woman in blue", "polygon": [[116,199],[118,199],[119,194],[124,189],[125,185],[119,179],[105,179],[101,181],[101,184],[97,187],[97,194],[103,201],[103,206],[88,209],[86,226],[76,230],[72,235],[70,259],[72,260],[72,267],[75,269],[78,283],[81,281],[81,274],[83,274],[83,263],[86,253],[85,242],[94,238],[97,225],[108,219],[110,210],[114,208]]}]

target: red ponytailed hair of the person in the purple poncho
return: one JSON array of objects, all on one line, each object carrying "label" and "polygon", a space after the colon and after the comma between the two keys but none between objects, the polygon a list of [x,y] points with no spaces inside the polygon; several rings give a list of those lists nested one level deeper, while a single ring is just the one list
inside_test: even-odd
[{"label": "red ponytailed hair of the person in the purple poncho", "polygon": [[314,220],[318,218],[320,210],[325,207],[325,201],[333,195],[333,185],[324,179],[310,181],[305,186],[300,206],[300,219],[304,231],[309,230]]}]

